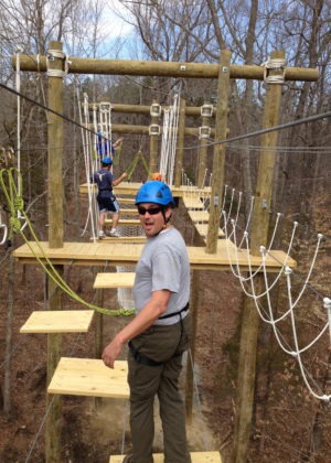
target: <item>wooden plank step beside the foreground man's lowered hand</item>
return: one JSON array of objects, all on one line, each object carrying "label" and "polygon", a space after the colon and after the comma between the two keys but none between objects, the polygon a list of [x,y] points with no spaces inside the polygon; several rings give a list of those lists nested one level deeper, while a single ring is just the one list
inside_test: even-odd
[{"label": "wooden plank step beside the foreground man's lowered hand", "polygon": [[62,357],[47,392],[127,399],[129,397],[127,375],[128,364],[125,360],[115,362],[113,369],[96,358]]}]

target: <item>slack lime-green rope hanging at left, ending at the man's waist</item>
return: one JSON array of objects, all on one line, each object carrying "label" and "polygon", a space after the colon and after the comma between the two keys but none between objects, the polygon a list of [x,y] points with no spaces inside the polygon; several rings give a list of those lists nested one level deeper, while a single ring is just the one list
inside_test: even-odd
[{"label": "slack lime-green rope hanging at left, ending at the man's waist", "polygon": [[[0,186],[1,186],[2,191],[3,191],[3,194],[6,196],[8,206],[9,206],[10,212],[11,212],[11,217],[10,217],[10,220],[9,220],[10,222],[10,230],[11,230],[11,234],[13,232],[21,234],[24,243],[28,245],[28,247],[30,248],[32,255],[35,257],[35,259],[41,265],[41,267],[43,268],[43,270],[54,281],[54,283],[58,288],[61,288],[61,290],[63,292],[65,292],[70,298],[72,298],[76,302],[79,302],[83,305],[86,305],[87,308],[89,308],[92,310],[95,310],[96,312],[103,313],[105,315],[126,315],[126,316],[132,315],[135,313],[135,311],[132,311],[132,310],[128,310],[128,309],[118,309],[118,310],[104,309],[104,308],[100,308],[98,305],[95,305],[95,304],[92,304],[92,303],[85,301],[77,293],[75,293],[70,288],[70,286],[63,280],[63,278],[60,276],[60,273],[57,272],[57,270],[53,266],[52,261],[46,256],[44,249],[42,248],[42,246],[41,246],[41,244],[40,244],[40,241],[39,241],[35,233],[34,233],[34,229],[31,226],[31,222],[29,220],[29,217],[26,216],[25,212],[23,211],[23,204],[24,204],[24,202],[18,195],[18,191],[17,191],[17,187],[15,187],[15,182],[14,182],[13,174],[12,174],[13,172],[17,173],[19,182],[22,182],[21,174],[20,174],[20,172],[15,168],[11,168],[10,170],[6,170],[6,169],[0,170]],[[4,179],[3,179],[4,173],[8,176],[8,185],[9,185],[9,187],[4,183]],[[35,241],[35,245],[36,245],[38,249],[41,252],[41,257],[36,255],[36,252],[34,251],[33,247],[31,246],[31,243],[28,240],[28,238],[25,237],[24,233],[22,232],[22,228],[23,228],[22,227],[22,223],[21,223],[21,219],[22,218],[24,218],[25,224],[28,225],[28,228],[31,232],[31,235],[32,235],[32,237],[33,237],[33,239]]]}]

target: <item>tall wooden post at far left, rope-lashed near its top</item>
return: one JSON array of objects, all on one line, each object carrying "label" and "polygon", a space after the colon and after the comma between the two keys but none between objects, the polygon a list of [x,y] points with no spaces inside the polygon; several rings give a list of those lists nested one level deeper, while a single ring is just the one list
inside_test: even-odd
[{"label": "tall wooden post at far left, rope-lashed near its top", "polygon": [[[55,51],[52,54],[52,51]],[[49,107],[60,114],[62,104],[62,75],[63,58],[61,57],[62,43],[50,42],[49,66]],[[50,248],[63,247],[63,120],[47,114],[49,120],[49,244]],[[63,274],[63,266],[56,266]],[[49,309],[62,308],[61,290],[53,280],[49,280]],[[47,335],[47,385],[50,384],[57,363],[61,358],[62,335]],[[46,397],[47,419],[45,426],[45,460],[61,463],[61,430],[62,430],[62,400],[61,396]]]}]

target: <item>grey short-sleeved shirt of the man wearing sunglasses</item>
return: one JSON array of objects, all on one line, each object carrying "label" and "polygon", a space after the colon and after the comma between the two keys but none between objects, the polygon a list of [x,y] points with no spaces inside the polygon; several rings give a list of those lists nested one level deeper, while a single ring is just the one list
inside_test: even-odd
[{"label": "grey short-sleeved shirt of the man wearing sunglasses", "polygon": [[[139,312],[151,299],[152,291],[171,292],[168,310],[163,314],[183,309],[190,299],[190,262],[181,234],[173,227],[148,238],[136,268],[134,297]],[[186,312],[182,314],[184,317]],[[172,325],[179,315],[157,320],[154,324]]]}]

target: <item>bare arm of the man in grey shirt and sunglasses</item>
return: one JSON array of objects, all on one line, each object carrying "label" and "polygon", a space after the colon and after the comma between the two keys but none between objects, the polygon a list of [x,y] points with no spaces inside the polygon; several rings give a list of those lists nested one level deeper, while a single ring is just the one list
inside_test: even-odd
[{"label": "bare arm of the man in grey shirt and sunglasses", "polygon": [[106,366],[114,368],[114,362],[124,344],[151,326],[167,311],[170,295],[171,293],[168,290],[152,292],[150,301],[138,315],[117,333],[114,340],[105,347],[102,358]]}]

